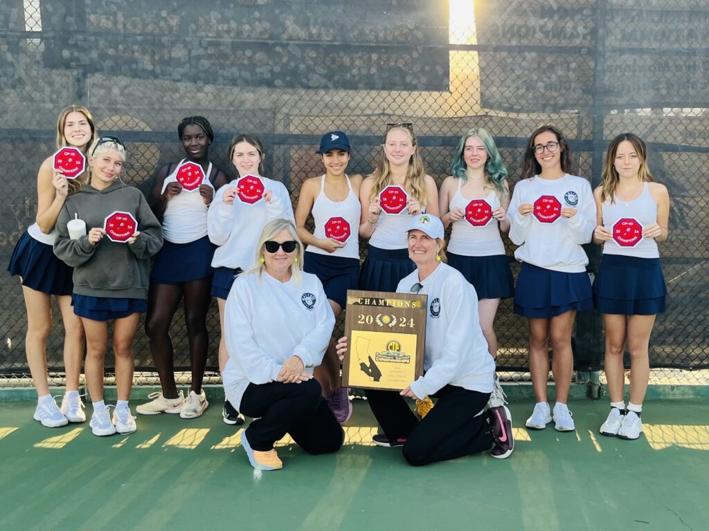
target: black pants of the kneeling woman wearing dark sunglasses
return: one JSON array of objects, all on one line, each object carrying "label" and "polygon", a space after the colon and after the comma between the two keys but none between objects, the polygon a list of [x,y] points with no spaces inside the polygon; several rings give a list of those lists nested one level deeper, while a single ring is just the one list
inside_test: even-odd
[{"label": "black pants of the kneeling woman wearing dark sunglasses", "polygon": [[249,384],[240,411],[257,418],[247,428],[246,438],[261,452],[271,450],[286,433],[313,455],[337,452],[345,439],[316,379],[300,384]]}]

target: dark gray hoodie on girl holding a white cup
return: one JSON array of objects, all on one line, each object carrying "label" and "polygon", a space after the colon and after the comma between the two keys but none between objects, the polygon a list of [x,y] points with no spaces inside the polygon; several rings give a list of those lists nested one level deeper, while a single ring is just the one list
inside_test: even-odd
[{"label": "dark gray hoodie on girl holding a white cup", "polygon": [[[138,221],[140,235],[133,245],[111,241],[104,236],[99,244],[89,243],[89,236],[69,239],[67,222],[86,222],[86,232],[104,227],[113,212],[130,212]],[[147,200],[138,188],[121,181],[104,190],[86,185],[67,198],[57,219],[54,253],[74,268],[74,293],[91,297],[145,299],[150,275],[150,256],[162,247],[162,229]]]}]

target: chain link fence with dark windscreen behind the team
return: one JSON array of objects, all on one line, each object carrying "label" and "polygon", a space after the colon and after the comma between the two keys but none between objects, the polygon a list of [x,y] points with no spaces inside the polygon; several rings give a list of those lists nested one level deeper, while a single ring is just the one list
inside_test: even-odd
[{"label": "chain link fence with dark windscreen behind the team", "polygon": [[[650,360],[666,368],[657,378],[688,382],[688,371],[709,368],[708,23],[705,0],[4,0],[0,258],[9,262],[34,221],[36,171],[54,151],[57,113],[68,103],[89,106],[101,134],[126,141],[124,178],[144,193],[155,169],[182,159],[179,120],[199,114],[214,127],[211,159],[226,173],[230,139],[258,135],[266,175],[286,185],[294,205],[302,181],[323,171],[315,150],[328,130],[350,135],[349,173],[366,175],[386,122],[413,122],[440,184],[460,135],[486,127],[512,185],[540,123],[565,132],[592,185],[608,139],[630,131],[648,143],[650,169],[671,195],[661,245],[669,299]],[[600,251],[587,252],[593,273]],[[16,278],[5,275],[0,286],[0,375],[18,384],[28,373],[23,297]],[[48,368],[61,378],[54,309]],[[216,371],[216,303],[208,328],[208,369]],[[499,367],[524,374],[527,324],[511,300],[496,329]],[[189,371],[181,311],[172,337],[175,367]],[[601,367],[598,314],[579,314],[575,355],[579,370]],[[139,382],[155,382],[140,331],[135,365]]]}]

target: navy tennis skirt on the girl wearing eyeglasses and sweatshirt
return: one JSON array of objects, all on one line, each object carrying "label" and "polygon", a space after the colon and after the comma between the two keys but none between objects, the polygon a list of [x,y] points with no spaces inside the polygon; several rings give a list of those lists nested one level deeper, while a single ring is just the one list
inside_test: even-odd
[{"label": "navy tennis skirt on the girl wearing eyeglasses and sweatshirt", "polygon": [[515,287],[515,314],[543,319],[589,309],[593,309],[593,295],[588,273],[563,273],[522,263]]}]

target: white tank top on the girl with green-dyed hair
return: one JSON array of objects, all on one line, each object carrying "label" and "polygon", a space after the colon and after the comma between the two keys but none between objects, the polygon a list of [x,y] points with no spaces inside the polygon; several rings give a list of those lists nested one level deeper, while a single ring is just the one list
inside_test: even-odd
[{"label": "white tank top on the girl with green-dyed hair", "polygon": [[501,207],[500,198],[493,190],[486,198],[466,199],[460,191],[463,180],[458,179],[458,190],[450,202],[450,210],[460,208],[463,219],[453,222],[448,250],[461,256],[494,256],[505,254],[500,236],[500,224],[492,211]]}]

